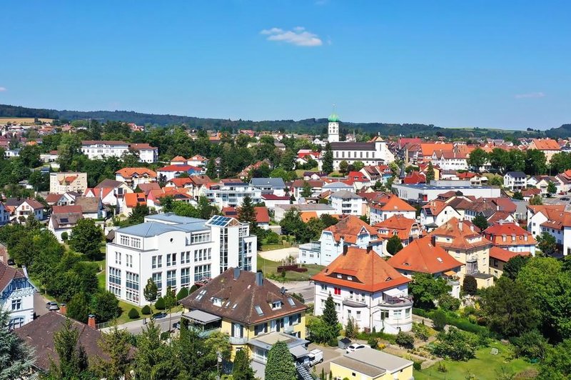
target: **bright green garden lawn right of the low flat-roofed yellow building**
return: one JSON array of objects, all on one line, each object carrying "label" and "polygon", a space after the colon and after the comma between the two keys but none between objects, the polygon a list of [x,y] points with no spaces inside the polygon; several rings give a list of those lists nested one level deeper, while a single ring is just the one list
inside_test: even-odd
[{"label": "bright green garden lawn right of the low flat-roofed yellow building", "polygon": [[[500,353],[497,355],[490,354],[492,347],[496,347]],[[478,350],[475,359],[470,359],[469,361],[443,361],[446,369],[448,369],[446,372],[439,372],[438,364],[435,364],[422,371],[414,371],[414,376],[417,380],[465,380],[469,379],[471,374],[474,376],[471,379],[495,380],[500,378],[500,374],[521,374],[522,376],[515,376],[515,379],[531,379],[531,376],[523,375],[535,373],[537,367],[523,359],[510,360],[507,350],[505,344],[495,341],[489,347]]]}]

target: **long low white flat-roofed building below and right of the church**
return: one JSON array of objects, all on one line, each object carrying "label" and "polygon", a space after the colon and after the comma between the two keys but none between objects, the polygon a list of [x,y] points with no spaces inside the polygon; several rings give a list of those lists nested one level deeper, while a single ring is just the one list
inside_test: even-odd
[{"label": "long low white flat-roofed building below and right of the church", "polygon": [[460,191],[464,196],[497,198],[501,195],[499,187],[472,186],[470,181],[431,181],[430,184],[393,184],[393,193],[405,201],[427,203],[438,199],[447,191]]}]

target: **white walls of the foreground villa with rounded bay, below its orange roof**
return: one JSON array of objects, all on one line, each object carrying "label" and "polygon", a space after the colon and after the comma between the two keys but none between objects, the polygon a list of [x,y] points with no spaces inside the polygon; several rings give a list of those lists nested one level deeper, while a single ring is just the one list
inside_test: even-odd
[{"label": "white walls of the foreground villa with rounded bay, below its orange roof", "polygon": [[413,300],[408,298],[408,284],[383,291],[360,291],[346,286],[334,286],[315,281],[315,315],[323,315],[329,294],[335,302],[340,324],[346,326],[349,318],[359,329],[373,329],[387,334],[413,327]]}]

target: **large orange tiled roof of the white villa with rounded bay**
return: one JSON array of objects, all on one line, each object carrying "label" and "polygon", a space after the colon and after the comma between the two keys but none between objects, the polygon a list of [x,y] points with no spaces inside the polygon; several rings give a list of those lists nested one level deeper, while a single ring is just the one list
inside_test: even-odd
[{"label": "large orange tiled roof of the white villa with rounded bay", "polygon": [[[352,281],[338,279],[337,274],[349,274],[354,279]],[[355,246],[347,247],[343,254],[311,279],[326,284],[371,292],[391,289],[411,281],[398,273],[375,251],[368,251]]]}]

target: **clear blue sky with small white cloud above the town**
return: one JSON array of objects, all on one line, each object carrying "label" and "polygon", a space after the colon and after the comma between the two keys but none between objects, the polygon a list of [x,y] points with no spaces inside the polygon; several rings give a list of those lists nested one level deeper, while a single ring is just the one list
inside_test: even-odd
[{"label": "clear blue sky with small white cloud above the town", "polygon": [[571,122],[569,1],[9,1],[0,103],[505,129]]}]

